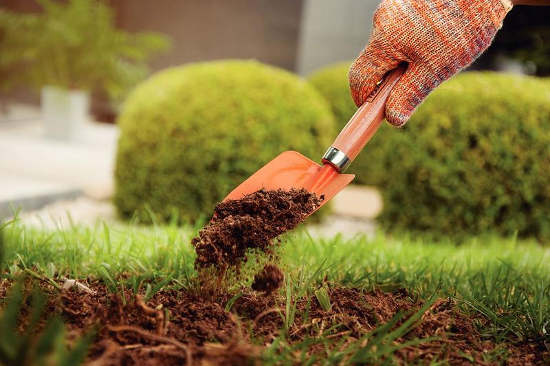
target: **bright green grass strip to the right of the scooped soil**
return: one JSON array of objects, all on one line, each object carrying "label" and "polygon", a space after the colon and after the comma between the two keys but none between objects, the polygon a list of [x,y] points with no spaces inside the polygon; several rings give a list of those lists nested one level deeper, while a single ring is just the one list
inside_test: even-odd
[{"label": "bright green grass strip to the right of the scooped soil", "polygon": [[[304,240],[307,238],[307,240]],[[332,282],[359,288],[407,288],[426,299],[442,293],[489,318],[496,342],[550,341],[550,249],[536,242],[489,236],[456,247],[410,238],[313,240],[289,238],[284,260],[293,268],[329,258]]]}]

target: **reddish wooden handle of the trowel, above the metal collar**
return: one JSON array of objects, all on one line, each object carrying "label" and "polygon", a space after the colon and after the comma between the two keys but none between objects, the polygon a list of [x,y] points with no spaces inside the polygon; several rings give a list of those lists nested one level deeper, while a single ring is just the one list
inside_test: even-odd
[{"label": "reddish wooden handle of the trowel, above the metal collar", "polygon": [[399,78],[407,70],[406,65],[399,65],[397,69],[386,73],[384,78],[378,82],[377,87],[369,95],[364,104],[359,107],[357,112],[351,117],[347,125],[342,129],[340,135],[336,137],[333,148],[344,152],[347,157],[353,161],[359,155],[361,150],[369,142],[374,133],[384,121],[386,102],[391,89],[399,81]]}]

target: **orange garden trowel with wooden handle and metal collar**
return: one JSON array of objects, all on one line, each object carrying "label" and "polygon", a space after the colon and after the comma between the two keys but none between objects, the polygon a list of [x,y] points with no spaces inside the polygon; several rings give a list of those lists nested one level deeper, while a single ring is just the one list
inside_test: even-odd
[{"label": "orange garden trowel with wooden handle and metal collar", "polygon": [[304,187],[317,196],[324,196],[321,205],[327,203],[355,178],[354,174],[343,174],[344,170],[382,125],[390,91],[405,71],[406,65],[399,65],[377,83],[369,98],[325,152],[322,165],[299,152],[285,151],[232,190],[225,200],[243,198],[261,188],[290,190]]}]

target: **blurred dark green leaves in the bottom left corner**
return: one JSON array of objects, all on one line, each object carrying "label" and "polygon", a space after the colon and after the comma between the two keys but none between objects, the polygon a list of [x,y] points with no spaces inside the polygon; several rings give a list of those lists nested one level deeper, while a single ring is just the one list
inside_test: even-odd
[{"label": "blurred dark green leaves in the bottom left corner", "polygon": [[[32,295],[31,306],[24,310],[23,285],[15,282],[0,312],[0,363],[2,365],[80,365],[84,361],[94,332],[76,339],[67,347],[67,331],[61,319],[47,321],[39,332],[46,300],[39,292]],[[19,331],[21,314],[28,323]]]}]

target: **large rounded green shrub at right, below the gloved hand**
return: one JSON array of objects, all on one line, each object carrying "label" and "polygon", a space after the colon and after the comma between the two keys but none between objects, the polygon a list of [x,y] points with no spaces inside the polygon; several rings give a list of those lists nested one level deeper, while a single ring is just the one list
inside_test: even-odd
[{"label": "large rounded green shrub at right, below the gloved hand", "polygon": [[550,240],[550,84],[503,73],[443,83],[384,135],[389,227]]}]

